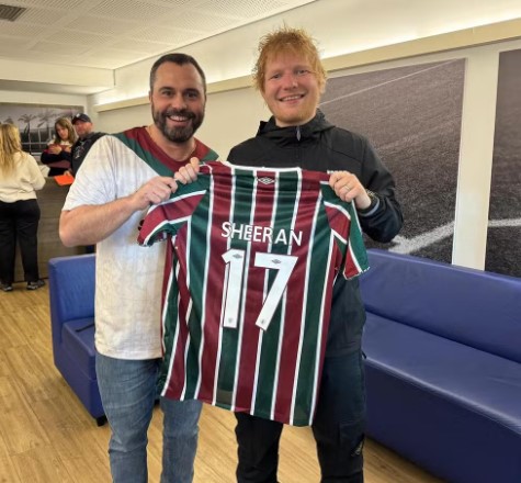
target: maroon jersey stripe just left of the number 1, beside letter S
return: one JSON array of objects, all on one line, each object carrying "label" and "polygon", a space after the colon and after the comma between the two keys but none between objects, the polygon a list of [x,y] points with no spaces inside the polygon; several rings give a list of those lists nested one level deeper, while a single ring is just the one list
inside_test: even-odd
[{"label": "maroon jersey stripe just left of the number 1, beside letter S", "polygon": [[[206,294],[205,294],[205,314],[204,314],[204,342],[201,359],[201,386],[197,397],[206,403],[215,404],[214,390],[217,384],[218,373],[216,373],[218,349],[220,347],[220,307],[223,305],[224,280],[222,274],[225,269],[223,267],[223,254],[228,249],[228,239],[222,236],[222,225],[230,220],[231,210],[231,181],[229,176],[213,176],[213,207],[212,213],[212,245],[207,247],[209,250],[208,266],[206,270]],[[193,256],[196,256],[193,254]]]}]

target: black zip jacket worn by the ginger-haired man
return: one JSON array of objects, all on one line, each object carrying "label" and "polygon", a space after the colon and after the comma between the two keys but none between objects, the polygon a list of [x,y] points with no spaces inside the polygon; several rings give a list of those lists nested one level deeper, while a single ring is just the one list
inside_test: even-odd
[{"label": "black zip jacket worn by the ginger-haired man", "polygon": [[[376,242],[390,242],[403,225],[395,182],[369,141],[333,126],[317,110],[302,126],[278,127],[274,119],[261,122],[256,137],[235,146],[228,161],[236,165],[314,171],[350,171],[376,194],[371,206],[359,211],[363,232]],[[359,282],[338,278],[333,287],[326,356],[359,350],[365,322]]]}]

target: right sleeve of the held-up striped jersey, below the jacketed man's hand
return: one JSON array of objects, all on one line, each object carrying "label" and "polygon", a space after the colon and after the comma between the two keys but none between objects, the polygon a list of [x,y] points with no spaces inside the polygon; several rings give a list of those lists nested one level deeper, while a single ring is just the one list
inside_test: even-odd
[{"label": "right sleeve of the held-up striped jersey, below the jacketed man's hand", "polygon": [[352,202],[340,200],[327,183],[321,183],[321,190],[329,226],[342,255],[340,272],[346,279],[352,279],[369,269],[356,210]]}]

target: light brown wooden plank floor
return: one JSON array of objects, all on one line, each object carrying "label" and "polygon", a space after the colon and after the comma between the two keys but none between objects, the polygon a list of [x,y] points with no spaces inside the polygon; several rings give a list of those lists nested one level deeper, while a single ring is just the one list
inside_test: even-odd
[{"label": "light brown wooden plank floor", "polygon": [[[109,427],[94,420],[53,363],[47,287],[34,292],[15,284],[0,292],[0,482],[110,482]],[[195,464],[196,483],[234,482],[233,415],[205,406]],[[149,431],[150,482],[159,482],[161,413]],[[309,428],[286,427],[279,480],[318,482]],[[374,441],[365,446],[366,483],[435,483],[414,464]]]}]

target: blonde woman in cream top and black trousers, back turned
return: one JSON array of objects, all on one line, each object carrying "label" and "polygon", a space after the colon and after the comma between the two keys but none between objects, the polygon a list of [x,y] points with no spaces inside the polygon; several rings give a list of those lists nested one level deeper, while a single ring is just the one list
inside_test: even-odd
[{"label": "blonde woman in cream top and black trousers, back turned", "polygon": [[27,290],[45,285],[38,271],[39,206],[36,191],[45,178],[36,159],[22,150],[20,131],[0,124],[0,290],[11,292],[16,242]]}]

